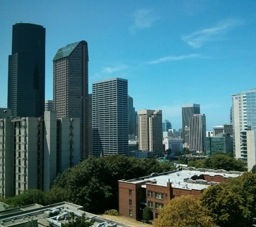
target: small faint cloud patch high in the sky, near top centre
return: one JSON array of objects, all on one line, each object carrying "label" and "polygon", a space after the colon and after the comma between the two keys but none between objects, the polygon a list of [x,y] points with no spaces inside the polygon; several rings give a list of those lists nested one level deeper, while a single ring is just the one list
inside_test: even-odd
[{"label": "small faint cloud patch high in the sky, near top centre", "polygon": [[157,18],[152,15],[153,10],[141,9],[133,13],[134,24],[130,26],[130,31],[134,33],[137,29],[146,29],[150,27]]}]

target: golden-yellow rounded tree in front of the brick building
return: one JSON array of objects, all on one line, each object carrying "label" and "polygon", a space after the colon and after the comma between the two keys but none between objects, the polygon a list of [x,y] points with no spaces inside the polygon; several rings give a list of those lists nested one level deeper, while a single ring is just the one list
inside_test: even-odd
[{"label": "golden-yellow rounded tree in front of the brick building", "polygon": [[155,227],[213,227],[216,226],[200,202],[193,196],[181,196],[172,199],[159,210]]}]

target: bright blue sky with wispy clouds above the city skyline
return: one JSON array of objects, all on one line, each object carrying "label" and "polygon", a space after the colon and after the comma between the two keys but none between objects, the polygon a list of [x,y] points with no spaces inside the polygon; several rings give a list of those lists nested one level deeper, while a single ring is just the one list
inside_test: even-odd
[{"label": "bright blue sky with wispy clouds above the city skyline", "polygon": [[12,25],[46,28],[45,99],[52,59],[86,40],[92,82],[128,80],[136,110],[160,109],[174,129],[183,104],[200,104],[206,128],[229,124],[231,94],[256,87],[256,1],[0,0],[0,107],[7,103]]}]

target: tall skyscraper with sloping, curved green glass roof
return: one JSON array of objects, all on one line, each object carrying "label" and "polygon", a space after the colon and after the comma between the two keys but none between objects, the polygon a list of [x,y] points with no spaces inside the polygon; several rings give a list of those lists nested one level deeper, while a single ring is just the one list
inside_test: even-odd
[{"label": "tall skyscraper with sloping, curved green glass roof", "polygon": [[80,157],[88,156],[88,47],[60,48],[53,58],[53,108],[57,117],[80,118]]}]

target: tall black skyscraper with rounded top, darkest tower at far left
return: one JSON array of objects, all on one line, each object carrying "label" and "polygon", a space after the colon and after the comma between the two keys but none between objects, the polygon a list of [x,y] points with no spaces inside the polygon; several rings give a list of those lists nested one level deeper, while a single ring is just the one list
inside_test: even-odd
[{"label": "tall black skyscraper with rounded top, darkest tower at far left", "polygon": [[45,28],[17,23],[12,26],[8,66],[8,108],[13,116],[44,115]]}]

